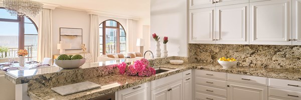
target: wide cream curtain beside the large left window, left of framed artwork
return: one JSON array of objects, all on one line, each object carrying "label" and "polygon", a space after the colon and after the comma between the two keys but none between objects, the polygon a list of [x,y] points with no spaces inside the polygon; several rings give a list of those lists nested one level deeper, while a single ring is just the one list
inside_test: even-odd
[{"label": "wide cream curtain beside the large left window, left of framed artwork", "polygon": [[44,57],[52,58],[52,23],[51,9],[44,8],[39,16],[38,61]]}]

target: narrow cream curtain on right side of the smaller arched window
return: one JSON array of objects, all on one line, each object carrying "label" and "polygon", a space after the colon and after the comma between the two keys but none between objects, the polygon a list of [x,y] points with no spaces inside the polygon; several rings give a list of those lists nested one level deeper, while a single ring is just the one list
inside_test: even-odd
[{"label": "narrow cream curtain on right side of the smaller arched window", "polygon": [[126,32],[126,44],[127,52],[132,52],[134,48],[134,38],[133,38],[133,19],[127,19],[127,32]]}]

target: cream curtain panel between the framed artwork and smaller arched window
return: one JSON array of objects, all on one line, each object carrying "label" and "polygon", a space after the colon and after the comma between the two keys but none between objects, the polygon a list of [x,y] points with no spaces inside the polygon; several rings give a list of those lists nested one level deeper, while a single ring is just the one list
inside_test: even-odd
[{"label": "cream curtain panel between the framed artwork and smaller arched window", "polygon": [[99,22],[98,15],[90,14],[90,53],[92,61],[96,62],[100,53],[99,49]]}]

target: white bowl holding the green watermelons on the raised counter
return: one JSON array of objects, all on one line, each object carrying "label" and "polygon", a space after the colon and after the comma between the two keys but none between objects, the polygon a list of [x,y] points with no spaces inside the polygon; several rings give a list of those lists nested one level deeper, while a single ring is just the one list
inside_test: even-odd
[{"label": "white bowl holding the green watermelons on the raised counter", "polygon": [[85,63],[86,59],[72,59],[72,60],[57,60],[54,59],[54,63],[62,68],[78,68]]}]

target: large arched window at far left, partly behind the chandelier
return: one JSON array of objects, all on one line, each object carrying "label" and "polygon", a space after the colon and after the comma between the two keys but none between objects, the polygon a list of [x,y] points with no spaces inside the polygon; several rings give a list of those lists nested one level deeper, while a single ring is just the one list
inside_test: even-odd
[{"label": "large arched window at far left, partly behind the chandelier", "polygon": [[12,16],[0,7],[0,58],[18,57],[19,49],[27,49],[25,60],[37,60],[38,27],[29,17]]}]

